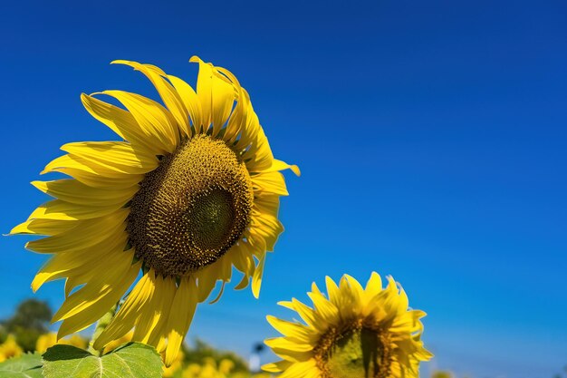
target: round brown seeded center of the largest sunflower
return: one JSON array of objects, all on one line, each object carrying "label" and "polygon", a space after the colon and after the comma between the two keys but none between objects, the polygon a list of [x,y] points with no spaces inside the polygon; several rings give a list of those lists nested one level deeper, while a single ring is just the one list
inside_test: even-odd
[{"label": "round brown seeded center of the largest sunflower", "polygon": [[130,204],[130,243],[159,274],[187,275],[242,237],[253,200],[245,163],[224,141],[197,135],[141,181]]}]

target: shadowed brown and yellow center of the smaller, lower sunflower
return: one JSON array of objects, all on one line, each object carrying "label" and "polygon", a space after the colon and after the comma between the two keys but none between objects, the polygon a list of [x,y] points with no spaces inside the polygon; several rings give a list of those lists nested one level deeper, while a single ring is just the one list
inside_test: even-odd
[{"label": "shadowed brown and yellow center of the smaller, lower sunflower", "polygon": [[362,325],[332,329],[323,335],[315,355],[323,378],[388,378],[388,334]]}]

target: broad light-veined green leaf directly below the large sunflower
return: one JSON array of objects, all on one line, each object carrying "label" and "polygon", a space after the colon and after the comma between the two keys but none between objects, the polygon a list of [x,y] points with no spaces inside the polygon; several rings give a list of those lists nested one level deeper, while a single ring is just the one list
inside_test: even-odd
[{"label": "broad light-veined green leaf directly below the large sunflower", "polygon": [[71,345],[43,354],[45,378],[161,378],[161,357],[149,345],[129,343],[102,357]]}]

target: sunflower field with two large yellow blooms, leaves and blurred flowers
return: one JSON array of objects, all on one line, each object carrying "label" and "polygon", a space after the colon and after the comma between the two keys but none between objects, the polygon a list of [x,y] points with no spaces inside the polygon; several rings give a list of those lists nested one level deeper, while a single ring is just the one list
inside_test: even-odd
[{"label": "sunflower field with two large yellow blooms, leaves and blurred flowers", "polygon": [[[242,275],[235,289],[251,286],[259,296],[266,254],[283,231],[280,197],[289,193],[281,171],[301,172],[274,158],[233,73],[197,56],[190,62],[198,65],[196,89],[152,64],[113,62],[142,73],[161,102],[117,90],[82,94],[86,111],[118,140],[66,143],[42,171],[63,178],[32,182],[53,199],[10,234],[39,236],[25,247],[51,255],[32,288],[65,280],[60,308],[43,311],[43,320],[61,324],[57,334],[41,323],[28,327],[35,337],[23,348],[24,337],[10,332],[30,316],[14,315],[0,372],[251,376],[237,358],[196,359],[203,348],[187,351],[183,341],[197,305],[216,303],[234,274]],[[426,314],[409,307],[392,277],[382,282],[371,272],[362,286],[327,276],[325,290],[313,283],[307,295],[311,304],[280,303],[301,320],[267,316],[282,336],[265,344],[281,360],[255,377],[417,377],[433,356],[421,340]],[[20,313],[26,305],[38,304]],[[90,340],[77,335],[93,324]]]}]

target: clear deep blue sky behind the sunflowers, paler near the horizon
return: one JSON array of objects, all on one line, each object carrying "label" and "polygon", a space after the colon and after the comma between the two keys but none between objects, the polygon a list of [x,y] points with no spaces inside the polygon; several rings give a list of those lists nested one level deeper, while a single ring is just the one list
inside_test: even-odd
[{"label": "clear deep blue sky behind the sunflowers, paler near the horizon", "polygon": [[[275,334],[264,315],[292,316],[278,300],[376,270],[428,312],[438,367],[549,378],[567,363],[567,3],[55,3],[0,15],[0,231],[45,199],[29,181],[63,143],[111,138],[81,92],[155,96],[112,60],[193,81],[198,54],[237,75],[303,176],[287,176],[260,299],[226,291],[191,335],[247,354]],[[0,317],[43,263],[24,241],[0,240]],[[62,283],[37,297],[59,305]]]}]

